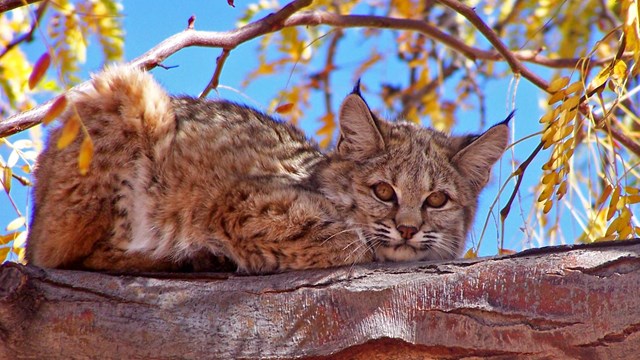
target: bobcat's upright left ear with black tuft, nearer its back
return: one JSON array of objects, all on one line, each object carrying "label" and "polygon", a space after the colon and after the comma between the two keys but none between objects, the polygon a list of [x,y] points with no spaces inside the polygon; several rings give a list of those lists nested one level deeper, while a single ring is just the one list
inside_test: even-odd
[{"label": "bobcat's upright left ear with black tuft, nearer its back", "polygon": [[364,160],[384,147],[382,133],[369,106],[359,89],[354,90],[340,106],[340,138],[336,150],[354,160]]}]

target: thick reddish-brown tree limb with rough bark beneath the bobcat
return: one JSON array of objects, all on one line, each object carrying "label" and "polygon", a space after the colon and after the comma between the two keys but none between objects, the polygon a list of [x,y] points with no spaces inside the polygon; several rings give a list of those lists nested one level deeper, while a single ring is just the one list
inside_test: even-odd
[{"label": "thick reddish-brown tree limb with rough bark beneath the bobcat", "polygon": [[0,358],[578,358],[640,350],[640,241],[272,276],[0,268]]}]

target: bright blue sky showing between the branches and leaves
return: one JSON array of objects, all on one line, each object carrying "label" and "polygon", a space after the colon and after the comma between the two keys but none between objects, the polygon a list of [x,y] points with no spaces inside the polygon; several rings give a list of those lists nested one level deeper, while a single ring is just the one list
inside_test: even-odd
[{"label": "bright blue sky showing between the branches and leaves", "polygon": [[[195,26],[199,30],[226,31],[233,29],[236,27],[236,20],[243,14],[244,6],[246,6],[245,4],[247,3],[249,2],[236,1],[236,8],[232,8],[227,5],[226,1],[222,0],[204,2],[195,0],[181,1],[179,5],[176,5],[178,3],[175,1],[164,0],[125,1],[125,60],[131,60],[141,55],[165,38],[182,31],[186,27],[187,19],[191,15],[196,16]],[[354,40],[355,36],[351,36],[361,32],[361,29],[348,29],[346,31],[347,37],[346,40],[341,43],[341,49],[339,50],[340,56],[337,60],[338,64],[343,64],[343,66],[341,66],[340,71],[337,72],[332,79],[332,83],[334,84],[334,108],[338,107],[341,98],[348,94],[353,87],[353,72],[357,67],[354,58],[364,58],[368,53],[364,47],[371,46],[371,44],[356,42]],[[391,37],[387,35],[383,37],[383,39],[389,40]],[[88,76],[88,71],[98,71],[102,66],[102,57],[95,46],[95,41],[92,41],[89,45],[88,62],[84,73],[85,78]],[[380,43],[375,44],[375,46],[391,46],[391,44]],[[225,99],[248,103],[261,110],[267,110],[269,102],[277,91],[287,86],[289,76],[295,78],[296,76],[302,75],[295,71],[292,73],[283,73],[278,76],[260,79],[251,83],[246,88],[242,88],[241,83],[243,79],[257,64],[256,48],[257,41],[253,40],[233,50],[222,73],[221,85],[240,90],[244,95],[239,96],[234,91],[221,89],[219,96]],[[28,51],[31,58],[35,59],[44,49],[42,42],[36,39]],[[164,65],[176,66],[175,68],[169,70],[156,68],[152,70],[152,73],[169,92],[197,96],[208,83],[215,68],[216,57],[219,54],[220,49],[187,48],[179,51],[165,61]],[[349,64],[353,65],[350,66]],[[382,108],[381,102],[376,95],[376,93],[379,92],[380,83],[389,81],[390,79],[396,79],[398,77],[398,71],[401,70],[393,66],[375,66],[362,76],[362,82],[367,85],[367,89],[369,90],[364,96],[372,108]],[[543,77],[548,77],[548,72],[546,71],[541,72],[541,74]],[[545,74],[547,75],[545,76]],[[539,107],[539,101],[545,97],[545,94],[526,80],[519,82],[517,91],[514,93],[510,90],[512,80],[513,78],[508,76],[505,79],[489,81],[486,83],[484,91],[488,97],[487,113],[490,122],[501,121],[511,110],[513,106],[511,101],[514,100],[517,113],[515,120],[512,122],[512,127],[514,129],[515,139],[520,139],[540,130],[538,119],[542,114],[542,110]],[[454,94],[453,91],[448,88],[443,88],[440,91],[448,96]],[[512,99],[514,94],[515,98]],[[216,96],[218,95],[215,93],[210,95],[210,97]],[[319,95],[311,99],[310,110],[307,111],[305,116],[306,120],[301,122],[301,126],[310,136],[315,133],[318,126],[314,119],[317,119],[324,112],[324,107],[320,100]],[[382,113],[381,115],[395,117],[395,114]],[[455,126],[454,133],[478,131],[479,114],[460,110],[458,119],[461,121]],[[428,119],[425,119],[425,123],[428,123]],[[518,162],[524,160],[537,145],[537,139],[538,138],[534,138],[518,145],[514,152],[509,151],[505,154],[501,164],[496,165],[494,168],[492,184],[484,191],[481,197],[476,225],[470,237],[471,241],[477,241],[480,236],[482,226],[487,219],[489,206],[497,193],[497,188],[512,171],[511,160],[515,159]],[[15,140],[15,138],[13,138],[13,140]],[[6,159],[8,151],[5,147],[0,148],[0,155]],[[540,159],[544,160],[546,156],[546,154],[542,154]],[[520,228],[524,224],[523,217],[526,217],[530,211],[530,204],[534,198],[534,194],[531,193],[530,189],[532,183],[539,178],[541,165],[542,161],[538,160],[529,168],[527,181],[525,181],[521,188],[520,197],[523,200],[523,204],[519,206],[516,202],[508,218],[505,227],[505,239],[507,240],[505,247],[507,248],[519,250],[529,246],[526,241],[523,243],[523,235]],[[507,190],[499,204],[504,204],[510,195],[511,188],[511,185],[507,186]],[[19,190],[19,187],[14,186],[12,197],[19,207],[26,209],[28,203],[26,194],[24,191],[20,192],[15,190]],[[3,197],[0,199],[0,226],[4,227],[11,219],[15,218],[15,212],[10,207],[4,195],[2,194],[0,197]],[[487,226],[487,233],[483,239],[481,255],[492,255],[496,253],[497,231],[499,230],[497,214],[500,208],[501,206],[497,205],[494,209],[495,216],[489,216],[489,224]],[[575,236],[569,235],[568,237],[573,238]]]}]

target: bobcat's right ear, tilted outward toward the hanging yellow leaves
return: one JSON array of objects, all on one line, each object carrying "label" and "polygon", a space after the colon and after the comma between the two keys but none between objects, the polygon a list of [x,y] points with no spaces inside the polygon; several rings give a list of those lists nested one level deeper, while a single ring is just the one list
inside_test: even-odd
[{"label": "bobcat's right ear, tilted outward toward the hanging yellow leaves", "polygon": [[[480,136],[458,138],[462,148],[451,162],[467,176],[480,191],[489,181],[491,167],[500,159],[509,143],[509,120],[513,112],[501,123],[492,126]],[[454,140],[454,143],[456,141]]]}]

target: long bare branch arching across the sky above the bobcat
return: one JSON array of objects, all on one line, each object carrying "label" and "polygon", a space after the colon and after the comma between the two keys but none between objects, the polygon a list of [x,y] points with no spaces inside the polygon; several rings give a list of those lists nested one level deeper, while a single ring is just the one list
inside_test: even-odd
[{"label": "long bare branch arching across the sky above the bobcat", "polygon": [[[462,53],[465,57],[472,60],[506,60],[512,69],[514,69],[514,72],[522,74],[522,76],[545,90],[547,84],[546,81],[531,73],[524,65],[522,65],[520,60],[544,64],[549,67],[574,67],[575,64],[580,61],[580,59],[546,59],[537,53],[532,54],[531,51],[511,52],[497,38],[495,33],[486,27],[486,25],[484,25],[484,27],[486,27],[489,32],[486,32],[485,29],[485,36],[489,37],[492,45],[496,46],[499,51],[488,51],[469,46],[460,39],[457,39],[422,20],[398,19],[369,15],[339,15],[325,11],[305,11],[296,13],[308,6],[311,2],[311,0],[293,1],[276,13],[270,14],[251,24],[231,31],[215,32],[192,29],[182,31],[160,42],[151,50],[134,59],[129,64],[131,66],[149,70],[160,65],[166,58],[186,47],[219,47],[230,51],[244,42],[268,33],[279,31],[283,27],[317,25],[329,25],[341,28],[371,27],[418,31],[439,43]],[[473,16],[468,14],[470,8],[460,6],[459,3],[449,0],[442,0],[442,2],[445,5],[456,5],[452,8],[454,10],[460,8],[460,11],[464,11],[464,15],[472,19],[470,21],[472,21],[474,25],[482,22],[482,20],[480,20],[475,14],[472,14]],[[598,62],[594,62],[593,64],[597,65]],[[218,69],[221,71],[220,66],[218,66]],[[88,83],[77,85],[70,92],[70,96],[73,97],[72,94],[74,91],[87,89],[88,86]],[[6,137],[39,124],[40,120],[51,106],[51,103],[52,102],[49,101],[35,109],[16,114],[5,121],[0,122],[0,137]]]}]

